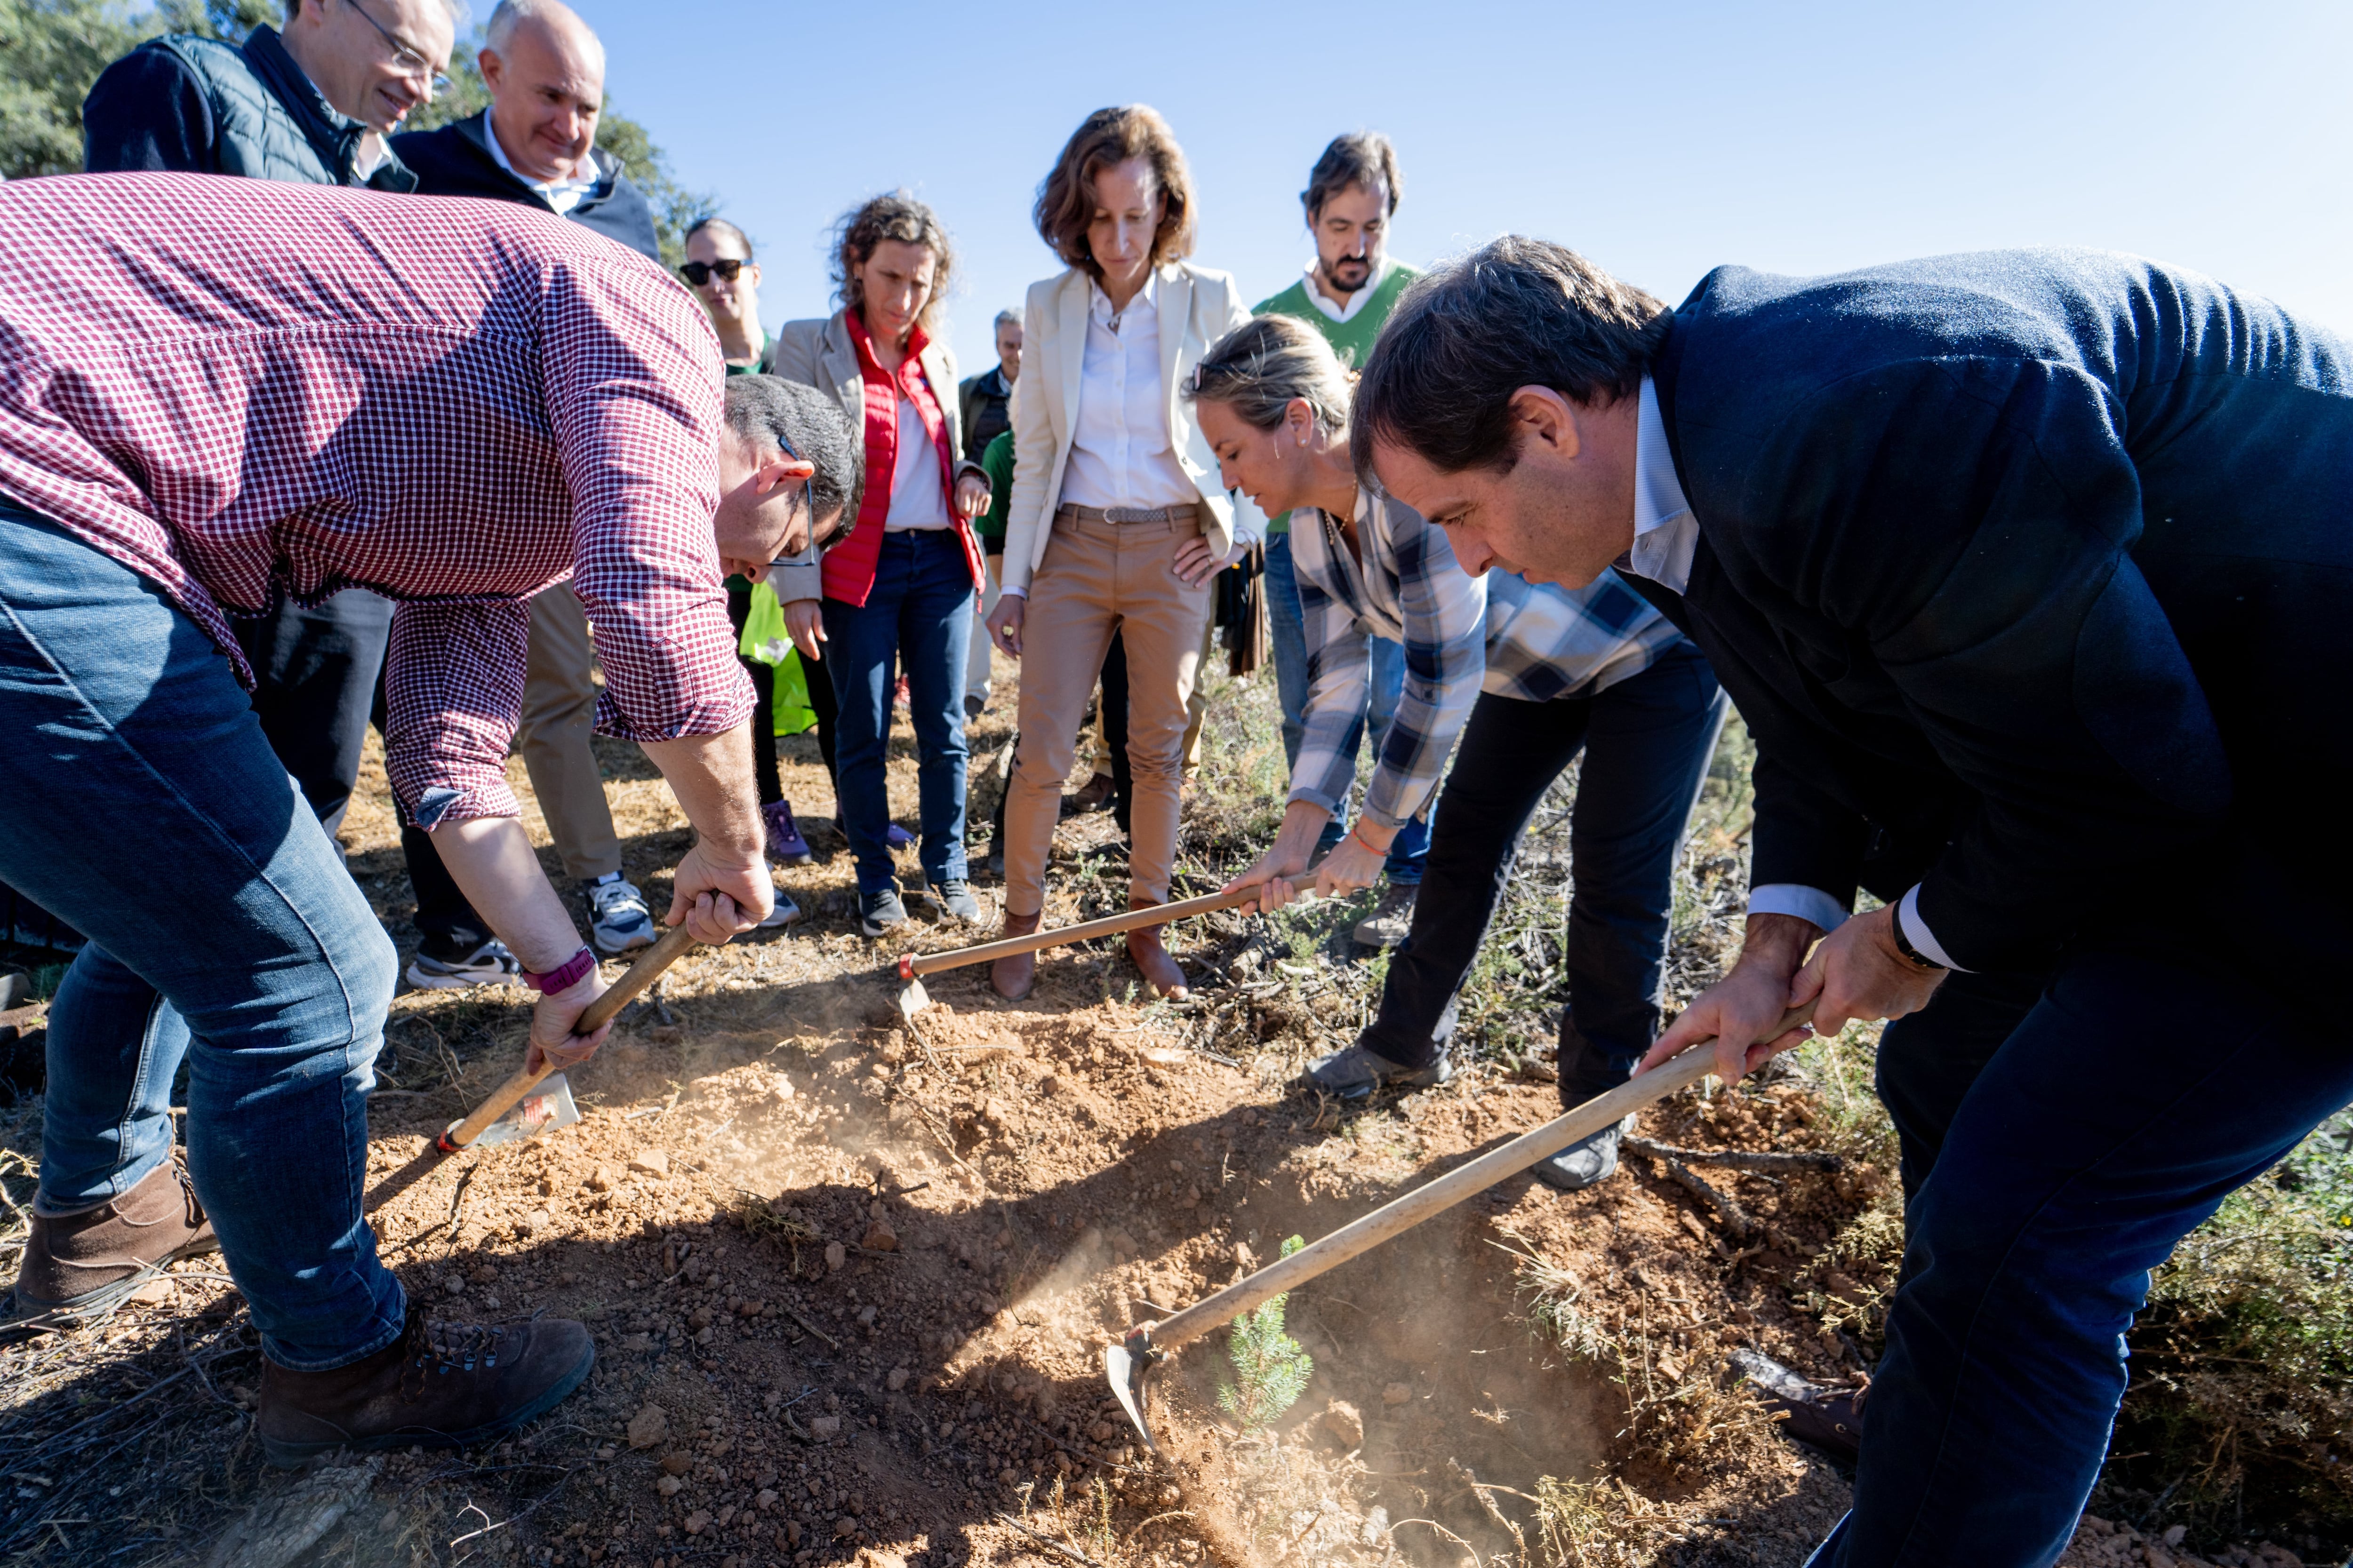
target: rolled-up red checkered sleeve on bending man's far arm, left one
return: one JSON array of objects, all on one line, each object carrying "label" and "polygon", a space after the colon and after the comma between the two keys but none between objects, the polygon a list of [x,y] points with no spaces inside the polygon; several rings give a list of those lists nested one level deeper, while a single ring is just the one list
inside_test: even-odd
[{"label": "rolled-up red checkered sleeve on bending man's far arm, left one", "polygon": [[[560,592],[560,590],[558,590]],[[513,599],[402,604],[384,651],[384,771],[407,820],[522,816],[506,752],[522,719],[532,611]]]}]

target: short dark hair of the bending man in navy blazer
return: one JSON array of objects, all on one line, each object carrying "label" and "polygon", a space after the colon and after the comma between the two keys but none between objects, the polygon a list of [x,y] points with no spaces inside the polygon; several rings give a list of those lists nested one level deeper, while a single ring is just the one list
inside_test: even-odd
[{"label": "short dark hair of the bending man in navy blazer", "polygon": [[1417,277],[1355,383],[1355,465],[1372,442],[1440,473],[1508,470],[1511,395],[1607,407],[1642,390],[1675,313],[1565,244],[1504,235]]}]

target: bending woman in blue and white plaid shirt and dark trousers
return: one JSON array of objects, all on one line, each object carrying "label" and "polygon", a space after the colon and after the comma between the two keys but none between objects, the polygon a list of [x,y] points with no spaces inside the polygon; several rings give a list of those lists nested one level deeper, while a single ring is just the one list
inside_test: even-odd
[{"label": "bending woman in blue and white plaid shirt and dark trousers", "polygon": [[[1292,510],[1292,559],[1308,644],[1306,738],[1289,809],[1257,865],[1228,886],[1294,896],[1322,825],[1355,783],[1372,637],[1405,644],[1405,696],[1355,827],[1315,867],[1337,898],[1381,875],[1388,842],[1431,811],[1431,858],[1379,1018],[1306,1072],[1360,1100],[1381,1084],[1445,1084],[1454,992],[1487,936],[1529,813],[1586,752],[1569,825],[1569,1006],[1560,1016],[1560,1098],[1577,1105],[1626,1079],[1659,1030],[1675,851],[1725,722],[1715,675],[1614,574],[1567,590],[1492,571],[1464,576],[1445,531],[1358,482],[1348,461],[1351,374],[1329,343],[1261,315],[1200,362],[1188,395],[1226,484],[1266,515]],[[1461,741],[1461,757],[1438,778]],[[1562,1190],[1617,1171],[1619,1128],[1537,1173]]]}]

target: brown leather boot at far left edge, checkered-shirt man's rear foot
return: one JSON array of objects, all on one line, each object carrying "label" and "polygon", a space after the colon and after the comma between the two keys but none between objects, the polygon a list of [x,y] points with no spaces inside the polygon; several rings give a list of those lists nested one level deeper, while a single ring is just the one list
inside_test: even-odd
[{"label": "brown leather boot at far left edge, checkered-shirt man's rear foot", "polygon": [[56,1218],[33,1211],[12,1316],[24,1328],[99,1316],[169,1262],[219,1246],[174,1152],[113,1204]]}]

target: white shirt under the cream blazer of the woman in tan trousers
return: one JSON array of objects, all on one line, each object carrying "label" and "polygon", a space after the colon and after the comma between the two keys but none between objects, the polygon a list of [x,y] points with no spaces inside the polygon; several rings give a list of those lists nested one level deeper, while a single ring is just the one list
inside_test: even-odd
[{"label": "white shirt under the cream blazer of the woman in tan trousers", "polygon": [[1160,388],[1160,275],[1113,315],[1104,284],[1087,284],[1087,353],[1078,423],[1061,475],[1064,505],[1186,505],[1200,487],[1169,444]]}]

